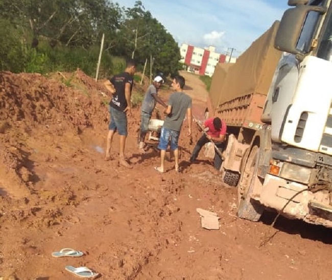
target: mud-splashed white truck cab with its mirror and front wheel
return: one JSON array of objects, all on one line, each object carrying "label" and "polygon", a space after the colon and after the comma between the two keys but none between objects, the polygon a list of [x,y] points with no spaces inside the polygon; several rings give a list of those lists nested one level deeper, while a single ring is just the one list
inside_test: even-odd
[{"label": "mud-splashed white truck cab with its mirror and front wheel", "polygon": [[243,159],[238,216],[266,208],[332,227],[332,5],[289,0],[274,46],[283,52]]}]

